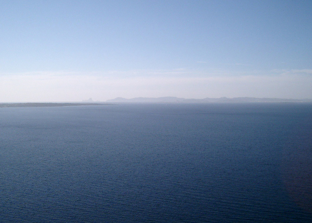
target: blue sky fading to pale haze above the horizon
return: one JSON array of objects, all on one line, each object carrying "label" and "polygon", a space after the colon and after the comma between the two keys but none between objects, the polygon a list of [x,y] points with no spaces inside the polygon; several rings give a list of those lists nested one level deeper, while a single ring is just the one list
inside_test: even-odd
[{"label": "blue sky fading to pale haze above the horizon", "polygon": [[0,2],[0,102],[312,98],[312,1]]}]

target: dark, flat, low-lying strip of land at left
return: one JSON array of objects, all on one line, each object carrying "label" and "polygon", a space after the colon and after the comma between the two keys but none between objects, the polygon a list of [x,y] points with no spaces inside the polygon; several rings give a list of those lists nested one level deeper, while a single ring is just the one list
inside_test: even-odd
[{"label": "dark, flat, low-lying strip of land at left", "polygon": [[0,108],[9,107],[62,107],[62,106],[83,106],[83,105],[108,105],[101,103],[0,103]]}]

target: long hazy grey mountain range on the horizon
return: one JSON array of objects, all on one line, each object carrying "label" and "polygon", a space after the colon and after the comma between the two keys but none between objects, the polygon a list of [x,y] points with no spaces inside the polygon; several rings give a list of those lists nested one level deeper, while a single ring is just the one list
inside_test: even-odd
[{"label": "long hazy grey mountain range on the horizon", "polygon": [[204,99],[185,99],[177,97],[160,98],[115,98],[106,102],[113,103],[254,103],[254,102],[312,102],[312,99],[282,99],[282,98],[204,98]]}]

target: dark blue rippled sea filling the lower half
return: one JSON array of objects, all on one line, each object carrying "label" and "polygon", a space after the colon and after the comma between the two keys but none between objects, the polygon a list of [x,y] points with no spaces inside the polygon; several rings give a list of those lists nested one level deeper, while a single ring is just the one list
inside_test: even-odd
[{"label": "dark blue rippled sea filling the lower half", "polygon": [[0,109],[1,222],[311,222],[312,104]]}]

